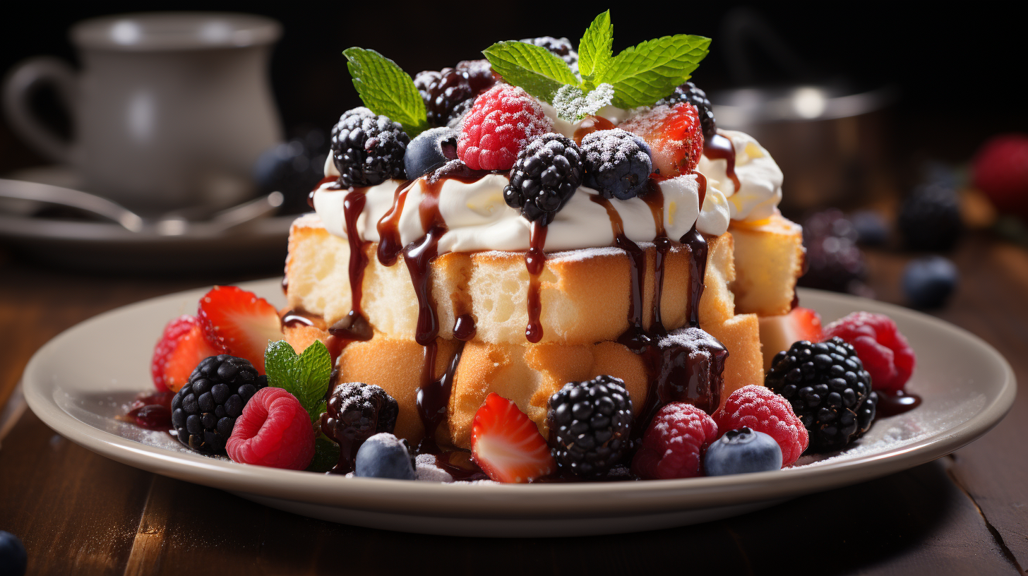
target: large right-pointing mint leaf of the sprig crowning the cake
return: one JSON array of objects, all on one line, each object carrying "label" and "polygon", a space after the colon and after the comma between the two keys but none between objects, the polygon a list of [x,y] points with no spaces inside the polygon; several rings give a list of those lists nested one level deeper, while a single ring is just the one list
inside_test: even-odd
[{"label": "large right-pointing mint leaf of the sprig crowning the cake", "polygon": [[691,34],[648,40],[616,56],[596,81],[614,85],[619,108],[651,106],[689,79],[709,46],[709,38]]}]

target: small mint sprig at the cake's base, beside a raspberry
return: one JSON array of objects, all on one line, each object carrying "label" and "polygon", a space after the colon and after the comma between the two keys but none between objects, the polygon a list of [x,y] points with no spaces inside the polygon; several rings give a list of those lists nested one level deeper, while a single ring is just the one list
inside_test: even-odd
[{"label": "small mint sprig at the cake's base, beside a raspberry", "polygon": [[267,345],[264,351],[264,372],[267,385],[282,388],[300,401],[300,405],[316,423],[325,411],[325,392],[332,374],[332,357],[320,340],[297,355],[286,340]]}]

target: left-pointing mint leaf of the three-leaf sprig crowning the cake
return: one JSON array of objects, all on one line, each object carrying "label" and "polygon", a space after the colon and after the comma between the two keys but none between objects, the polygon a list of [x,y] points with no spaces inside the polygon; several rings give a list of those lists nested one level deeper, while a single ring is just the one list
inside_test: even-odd
[{"label": "left-pointing mint leaf of the three-leaf sprig crowning the cake", "polygon": [[543,46],[508,40],[492,44],[482,53],[497,74],[546,102],[553,102],[560,86],[579,83],[567,63]]}]

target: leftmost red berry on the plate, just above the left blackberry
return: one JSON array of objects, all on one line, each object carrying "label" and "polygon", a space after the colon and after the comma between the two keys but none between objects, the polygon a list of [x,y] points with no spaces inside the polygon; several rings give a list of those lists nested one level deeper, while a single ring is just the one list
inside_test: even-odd
[{"label": "leftmost red berry on the plate, just above the left blackberry", "polygon": [[150,375],[157,390],[178,392],[200,360],[217,356],[220,349],[211,346],[195,316],[182,316],[164,326],[150,360]]}]

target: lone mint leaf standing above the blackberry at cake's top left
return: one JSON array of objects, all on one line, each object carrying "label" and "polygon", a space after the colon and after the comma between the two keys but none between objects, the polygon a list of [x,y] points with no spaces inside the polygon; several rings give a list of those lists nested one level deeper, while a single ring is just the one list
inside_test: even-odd
[{"label": "lone mint leaf standing above the blackberry at cake's top left", "polygon": [[400,122],[413,138],[429,128],[425,101],[414,80],[392,60],[375,50],[346,48],[346,68],[361,100],[375,114]]}]

